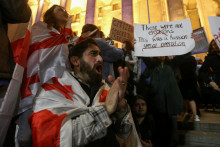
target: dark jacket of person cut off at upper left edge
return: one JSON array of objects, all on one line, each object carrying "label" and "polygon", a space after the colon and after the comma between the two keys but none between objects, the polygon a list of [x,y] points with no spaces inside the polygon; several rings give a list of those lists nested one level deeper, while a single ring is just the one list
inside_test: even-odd
[{"label": "dark jacket of person cut off at upper left edge", "polygon": [[31,9],[27,0],[0,1],[0,80],[10,80],[15,65],[7,36],[8,23],[25,23],[30,16]]}]

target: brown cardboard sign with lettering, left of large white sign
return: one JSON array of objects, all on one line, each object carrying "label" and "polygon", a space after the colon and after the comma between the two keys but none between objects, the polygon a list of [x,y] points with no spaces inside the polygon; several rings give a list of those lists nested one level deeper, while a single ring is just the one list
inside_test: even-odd
[{"label": "brown cardboard sign with lettering, left of large white sign", "polygon": [[119,42],[127,40],[133,41],[134,26],[119,19],[113,18],[109,36],[111,39]]}]

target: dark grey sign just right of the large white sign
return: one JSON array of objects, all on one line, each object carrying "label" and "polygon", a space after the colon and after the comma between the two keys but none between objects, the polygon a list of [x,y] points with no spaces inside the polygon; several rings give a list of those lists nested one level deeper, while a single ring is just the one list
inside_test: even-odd
[{"label": "dark grey sign just right of the large white sign", "polygon": [[205,53],[208,51],[209,42],[206,37],[204,28],[199,28],[193,31],[193,38],[195,40],[195,47],[192,54]]}]

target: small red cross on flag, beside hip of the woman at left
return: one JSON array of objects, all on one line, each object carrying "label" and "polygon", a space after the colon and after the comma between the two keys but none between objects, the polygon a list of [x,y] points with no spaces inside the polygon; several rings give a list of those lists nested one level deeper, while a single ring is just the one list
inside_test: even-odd
[{"label": "small red cross on flag, beside hip of the woman at left", "polygon": [[23,82],[22,82],[22,85],[21,85],[21,97],[22,97],[22,99],[32,95],[32,92],[31,92],[31,89],[30,89],[29,86],[31,84],[38,83],[38,82],[40,82],[38,73],[36,73],[33,76],[27,78],[27,69],[25,69],[24,78],[23,78]]}]

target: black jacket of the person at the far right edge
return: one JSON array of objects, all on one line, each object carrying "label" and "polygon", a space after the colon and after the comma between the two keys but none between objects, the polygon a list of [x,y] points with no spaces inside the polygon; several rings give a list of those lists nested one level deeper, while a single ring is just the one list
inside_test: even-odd
[{"label": "black jacket of the person at the far right edge", "polygon": [[215,82],[220,86],[220,56],[216,53],[208,54],[205,57],[205,61],[202,64],[202,67],[199,69],[199,78],[205,83],[211,82],[209,78],[209,70],[212,68],[213,74],[215,76]]}]

